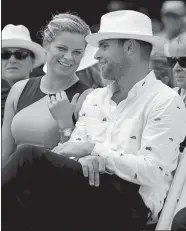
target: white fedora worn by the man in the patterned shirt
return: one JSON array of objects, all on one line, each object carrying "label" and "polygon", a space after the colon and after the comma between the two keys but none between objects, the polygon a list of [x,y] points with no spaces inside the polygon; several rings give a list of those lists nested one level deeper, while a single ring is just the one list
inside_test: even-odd
[{"label": "white fedora worn by the man in the patterned shirt", "polygon": [[101,17],[100,30],[86,36],[92,46],[106,39],[135,39],[151,43],[154,47],[164,46],[166,40],[153,36],[151,19],[140,12],[119,10],[104,14]]}]

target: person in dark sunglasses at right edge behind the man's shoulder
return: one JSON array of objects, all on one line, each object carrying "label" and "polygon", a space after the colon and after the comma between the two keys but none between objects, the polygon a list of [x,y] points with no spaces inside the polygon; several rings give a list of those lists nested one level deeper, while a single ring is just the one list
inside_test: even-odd
[{"label": "person in dark sunglasses at right edge behind the man's shoulder", "polygon": [[[186,33],[179,35],[171,43],[167,43],[168,64],[173,68],[176,86],[175,91],[183,99],[186,106]],[[180,151],[186,147],[186,139],[180,144]]]}]

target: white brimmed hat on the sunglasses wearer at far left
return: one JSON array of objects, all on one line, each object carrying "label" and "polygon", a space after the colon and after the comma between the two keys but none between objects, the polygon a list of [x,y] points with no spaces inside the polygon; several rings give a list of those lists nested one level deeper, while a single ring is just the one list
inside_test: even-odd
[{"label": "white brimmed hat on the sunglasses wearer at far left", "polygon": [[30,50],[35,55],[34,68],[45,63],[44,48],[31,40],[29,30],[23,25],[8,24],[2,30],[2,48],[19,47]]}]

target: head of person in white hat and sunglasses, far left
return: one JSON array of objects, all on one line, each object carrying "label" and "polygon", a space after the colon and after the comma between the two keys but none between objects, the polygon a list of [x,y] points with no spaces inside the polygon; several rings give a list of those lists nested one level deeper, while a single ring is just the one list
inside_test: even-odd
[{"label": "head of person in white hat and sunglasses, far left", "polygon": [[42,46],[33,42],[23,25],[8,24],[2,30],[2,78],[11,85],[29,78],[33,68],[45,62]]}]

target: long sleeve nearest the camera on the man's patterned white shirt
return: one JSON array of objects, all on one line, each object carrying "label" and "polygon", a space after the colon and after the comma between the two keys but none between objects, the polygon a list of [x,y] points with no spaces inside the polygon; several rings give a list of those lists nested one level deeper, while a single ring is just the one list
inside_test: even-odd
[{"label": "long sleeve nearest the camera on the man's patterned white shirt", "polygon": [[92,155],[106,159],[108,172],[147,186],[158,185],[164,177],[172,179],[179,144],[186,135],[186,109],[179,96],[161,101],[148,115],[137,154],[119,153],[109,144],[96,143]]}]

